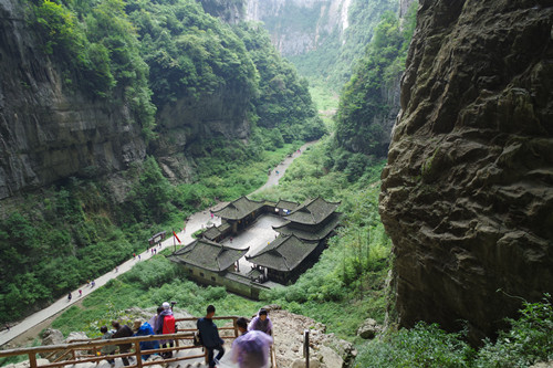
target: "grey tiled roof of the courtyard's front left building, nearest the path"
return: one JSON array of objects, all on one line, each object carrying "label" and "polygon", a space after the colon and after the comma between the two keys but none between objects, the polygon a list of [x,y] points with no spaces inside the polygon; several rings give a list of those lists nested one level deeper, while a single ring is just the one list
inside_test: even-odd
[{"label": "grey tiled roof of the courtyard's front left building, nearest the path", "polygon": [[240,260],[247,249],[236,249],[206,239],[198,239],[176,251],[171,257],[179,263],[188,263],[213,272],[225,271]]}]

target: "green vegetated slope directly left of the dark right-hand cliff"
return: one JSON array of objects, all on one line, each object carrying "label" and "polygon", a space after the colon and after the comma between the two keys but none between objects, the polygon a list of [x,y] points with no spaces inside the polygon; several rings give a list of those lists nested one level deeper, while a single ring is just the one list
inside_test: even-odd
[{"label": "green vegetated slope directly left of the dark right-hand cliff", "polygon": [[383,15],[365,56],[343,90],[336,114],[336,139],[348,150],[387,156],[389,132],[382,122],[393,106],[385,94],[394,90],[405,69],[416,24],[415,10],[416,3],[403,27],[396,14]]}]

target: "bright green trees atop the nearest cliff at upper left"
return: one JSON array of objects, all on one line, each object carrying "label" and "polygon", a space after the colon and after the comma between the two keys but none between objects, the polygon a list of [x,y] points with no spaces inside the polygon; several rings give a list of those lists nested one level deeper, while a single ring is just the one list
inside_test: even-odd
[{"label": "bright green trees atop the nearest cliff at upper left", "polygon": [[29,23],[43,51],[62,71],[67,88],[128,104],[146,139],[153,137],[156,108],[148,66],[138,53],[134,25],[122,0],[30,1]]}]

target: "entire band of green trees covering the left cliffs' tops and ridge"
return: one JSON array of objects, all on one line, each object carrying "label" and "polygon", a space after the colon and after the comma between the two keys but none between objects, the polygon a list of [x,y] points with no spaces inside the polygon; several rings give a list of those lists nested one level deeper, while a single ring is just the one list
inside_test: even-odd
[{"label": "entire band of green trees covering the left cliffs' tops and ridge", "polygon": [[128,104],[147,139],[156,107],[197,104],[225,91],[246,102],[251,124],[280,129],[288,143],[324,133],[306,82],[259,27],[222,23],[194,0],[33,0],[29,7],[28,22],[62,66],[64,85]]}]

